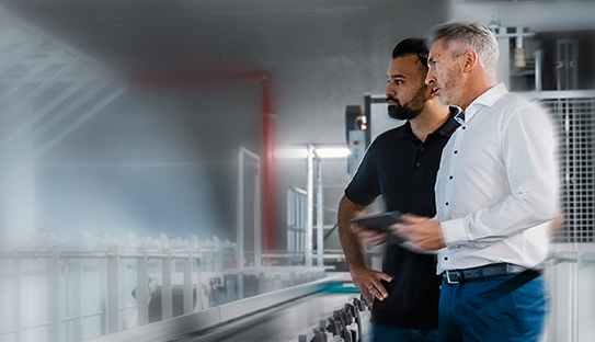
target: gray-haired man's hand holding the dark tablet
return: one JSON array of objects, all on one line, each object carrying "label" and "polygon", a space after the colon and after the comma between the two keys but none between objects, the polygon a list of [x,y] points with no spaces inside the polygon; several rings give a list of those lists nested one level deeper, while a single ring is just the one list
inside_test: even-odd
[{"label": "gray-haired man's hand holding the dark tablet", "polygon": [[402,223],[389,227],[401,239],[411,241],[421,252],[436,251],[446,247],[440,223],[411,214],[401,216]]}]

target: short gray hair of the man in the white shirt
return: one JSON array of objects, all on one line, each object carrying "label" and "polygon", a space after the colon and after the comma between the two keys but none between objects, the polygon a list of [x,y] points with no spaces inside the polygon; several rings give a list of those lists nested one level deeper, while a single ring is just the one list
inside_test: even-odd
[{"label": "short gray hair of the man in the white shirt", "polygon": [[471,22],[453,22],[438,25],[432,30],[430,45],[444,39],[446,47],[456,44],[453,58],[458,58],[468,49],[478,54],[483,70],[495,76],[500,48],[494,34],[484,25]]}]

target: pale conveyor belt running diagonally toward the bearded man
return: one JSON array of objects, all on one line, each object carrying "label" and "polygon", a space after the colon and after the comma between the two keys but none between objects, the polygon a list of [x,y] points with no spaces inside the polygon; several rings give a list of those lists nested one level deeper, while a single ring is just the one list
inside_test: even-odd
[{"label": "pale conveyor belt running diagonally toward the bearded man", "polygon": [[295,339],[356,294],[318,293],[172,342],[278,342]]}]

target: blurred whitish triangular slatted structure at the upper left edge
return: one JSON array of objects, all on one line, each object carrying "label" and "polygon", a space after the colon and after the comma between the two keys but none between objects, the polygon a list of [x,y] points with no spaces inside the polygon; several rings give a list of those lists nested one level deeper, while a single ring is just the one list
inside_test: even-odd
[{"label": "blurred whitish triangular slatted structure at the upper left edge", "polygon": [[[112,103],[127,83],[0,8],[0,185]],[[52,94],[43,106],[35,103]]]}]

